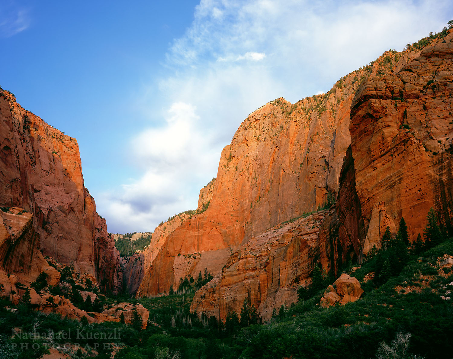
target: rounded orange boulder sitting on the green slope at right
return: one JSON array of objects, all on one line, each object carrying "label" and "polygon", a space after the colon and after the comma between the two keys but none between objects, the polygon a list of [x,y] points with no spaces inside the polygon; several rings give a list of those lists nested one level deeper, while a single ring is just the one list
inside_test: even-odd
[{"label": "rounded orange boulder sitting on the green slope at right", "polygon": [[328,286],[319,302],[319,305],[327,308],[336,303],[346,304],[357,301],[363,293],[357,278],[343,273],[332,286]]}]

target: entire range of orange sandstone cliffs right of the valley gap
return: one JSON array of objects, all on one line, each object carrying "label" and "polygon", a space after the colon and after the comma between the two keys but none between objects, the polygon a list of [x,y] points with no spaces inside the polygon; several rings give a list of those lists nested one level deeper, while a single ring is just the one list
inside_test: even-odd
[{"label": "entire range of orange sandstone cliffs right of the valley gap", "polygon": [[[395,233],[401,216],[414,239],[434,205],[451,230],[452,37],[450,30],[424,48],[384,53],[327,95],[294,105],[278,99],[252,113],[222,153],[208,210],[169,236],[150,266],[154,280],[143,282],[140,294],[178,280],[178,254],[198,251],[197,260],[216,272],[221,266],[209,267],[210,256],[231,246],[234,253],[196,293],[192,310],[224,319],[248,299],[267,319],[273,307],[295,300],[296,283],[309,280],[314,262],[337,273],[348,260],[360,261],[380,246],[387,226]],[[337,203],[313,227],[316,240],[295,246],[301,233],[291,226],[264,233],[323,204],[328,191]]]}]

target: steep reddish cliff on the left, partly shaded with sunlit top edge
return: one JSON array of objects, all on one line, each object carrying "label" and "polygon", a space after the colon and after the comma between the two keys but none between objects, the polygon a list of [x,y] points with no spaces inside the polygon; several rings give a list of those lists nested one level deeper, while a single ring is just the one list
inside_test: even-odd
[{"label": "steep reddish cliff on the left, partly shaded with sunlit top edge", "polygon": [[34,213],[41,250],[121,288],[119,253],[84,187],[77,141],[24,110],[0,90],[0,205]]}]

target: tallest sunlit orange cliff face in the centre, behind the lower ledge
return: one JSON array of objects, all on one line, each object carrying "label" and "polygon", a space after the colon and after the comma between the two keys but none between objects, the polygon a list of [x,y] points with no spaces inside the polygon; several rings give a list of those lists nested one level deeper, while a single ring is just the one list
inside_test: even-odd
[{"label": "tallest sunlit orange cliff face in the centre, behind the lower ledge", "polygon": [[208,209],[166,238],[138,296],[167,292],[204,267],[218,273],[241,244],[337,194],[355,90],[370,75],[390,73],[395,56],[385,53],[388,65],[350,73],[326,94],[294,104],[279,98],[248,116],[222,151]]}]

